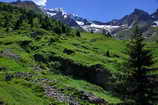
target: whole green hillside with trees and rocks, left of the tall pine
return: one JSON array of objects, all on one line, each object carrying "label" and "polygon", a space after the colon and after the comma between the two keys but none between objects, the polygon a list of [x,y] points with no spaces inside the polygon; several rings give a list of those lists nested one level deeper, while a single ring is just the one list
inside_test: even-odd
[{"label": "whole green hillside with trees and rocks, left of the tall pine", "polygon": [[[127,40],[84,32],[76,36],[76,30],[58,21],[36,13],[30,21],[29,10],[4,3],[0,11],[0,104],[122,103],[105,87],[123,73]],[[21,16],[26,18],[19,25]],[[146,43],[157,59],[158,43]]]}]

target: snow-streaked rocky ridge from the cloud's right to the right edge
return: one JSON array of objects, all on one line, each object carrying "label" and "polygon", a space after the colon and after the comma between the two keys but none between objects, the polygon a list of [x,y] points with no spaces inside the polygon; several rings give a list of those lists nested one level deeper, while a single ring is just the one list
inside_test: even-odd
[{"label": "snow-streaked rocky ridge from the cloud's right to the right edge", "polygon": [[115,19],[106,23],[85,19],[77,15],[67,13],[61,8],[45,8],[44,10],[52,18],[60,20],[71,27],[80,27],[88,32],[116,34],[122,30],[131,29],[135,25],[138,25],[141,28],[158,26],[158,10],[153,14],[149,14],[143,10],[135,9],[131,14],[126,15],[121,19]]}]

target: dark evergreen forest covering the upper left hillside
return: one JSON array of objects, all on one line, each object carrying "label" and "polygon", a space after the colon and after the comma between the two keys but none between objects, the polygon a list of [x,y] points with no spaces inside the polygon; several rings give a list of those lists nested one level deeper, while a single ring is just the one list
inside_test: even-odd
[{"label": "dark evergreen forest covering the upper left hillside", "polygon": [[0,21],[0,26],[6,28],[6,31],[31,28],[42,28],[57,34],[68,34],[71,31],[67,25],[42,13],[4,3],[0,3]]}]

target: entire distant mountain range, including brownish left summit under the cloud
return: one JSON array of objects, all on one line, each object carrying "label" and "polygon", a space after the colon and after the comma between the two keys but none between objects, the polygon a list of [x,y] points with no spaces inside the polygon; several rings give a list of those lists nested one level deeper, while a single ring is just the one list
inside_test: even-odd
[{"label": "entire distant mountain range, including brownish left summit under the cloud", "polygon": [[[67,13],[62,8],[40,8],[31,1],[13,2],[12,4],[18,7],[31,8],[35,11],[44,12],[49,17],[61,21],[73,28],[94,33],[110,33],[117,38],[120,38],[121,35],[123,39],[125,36],[130,36],[130,34],[126,34],[131,33],[132,28],[136,25],[141,28],[145,37],[152,36],[152,28],[158,27],[158,10],[153,14],[149,14],[143,10],[135,9],[131,14],[126,15],[121,19],[114,19],[110,22],[100,22],[82,18],[78,15],[74,15],[73,13]],[[149,32],[151,34],[147,35]]]}]

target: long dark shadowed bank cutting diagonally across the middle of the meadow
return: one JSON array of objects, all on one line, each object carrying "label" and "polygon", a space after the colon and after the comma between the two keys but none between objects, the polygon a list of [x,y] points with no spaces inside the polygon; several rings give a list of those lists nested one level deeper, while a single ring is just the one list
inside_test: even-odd
[{"label": "long dark shadowed bank cutting diagonally across the middle of the meadow", "polygon": [[63,74],[71,75],[74,78],[87,80],[102,87],[104,87],[106,83],[111,79],[111,73],[99,64],[88,67],[75,63],[70,59],[55,57],[53,55],[44,57],[41,54],[35,54],[34,58],[36,61],[44,62],[47,64],[51,61],[60,62],[61,66],[59,67],[59,70]]}]

